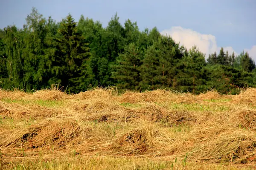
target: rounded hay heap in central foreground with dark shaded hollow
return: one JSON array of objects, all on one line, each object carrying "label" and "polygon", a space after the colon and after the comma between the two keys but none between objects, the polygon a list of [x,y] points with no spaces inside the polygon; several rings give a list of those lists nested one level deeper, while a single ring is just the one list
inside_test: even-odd
[{"label": "rounded hay heap in central foreground with dark shaded hollow", "polygon": [[111,149],[117,155],[167,156],[180,150],[178,140],[156,127],[144,125],[119,135]]}]

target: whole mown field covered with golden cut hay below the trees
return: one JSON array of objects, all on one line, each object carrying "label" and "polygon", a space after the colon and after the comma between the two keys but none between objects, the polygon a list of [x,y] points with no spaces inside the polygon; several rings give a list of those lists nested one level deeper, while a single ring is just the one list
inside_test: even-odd
[{"label": "whole mown field covered with golden cut hay below the trees", "polygon": [[0,90],[0,169],[256,166],[256,89],[239,95]]}]

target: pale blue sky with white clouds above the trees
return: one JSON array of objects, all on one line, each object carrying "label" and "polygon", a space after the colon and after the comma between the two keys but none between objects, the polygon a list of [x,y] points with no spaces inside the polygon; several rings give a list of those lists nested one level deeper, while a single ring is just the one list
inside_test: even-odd
[{"label": "pale blue sky with white clouds above the trees", "polygon": [[256,0],[0,0],[0,28],[22,28],[32,7],[61,21],[69,13],[79,20],[99,20],[105,27],[117,12],[140,30],[156,26],[186,48],[196,45],[207,56],[221,47],[235,54],[247,51],[256,61]]}]

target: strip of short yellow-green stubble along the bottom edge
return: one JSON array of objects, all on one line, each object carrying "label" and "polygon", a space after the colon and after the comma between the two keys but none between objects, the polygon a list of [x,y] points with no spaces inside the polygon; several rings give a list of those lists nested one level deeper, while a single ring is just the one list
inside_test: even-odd
[{"label": "strip of short yellow-green stubble along the bottom edge", "polygon": [[100,156],[73,156],[62,159],[35,159],[0,163],[0,169],[9,170],[250,170],[253,167],[203,164],[182,160],[122,158]]}]

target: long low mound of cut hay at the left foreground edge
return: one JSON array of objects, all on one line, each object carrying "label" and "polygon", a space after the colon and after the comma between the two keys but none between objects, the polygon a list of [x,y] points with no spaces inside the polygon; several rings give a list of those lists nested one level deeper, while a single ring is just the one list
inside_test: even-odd
[{"label": "long low mound of cut hay at the left foreground edge", "polygon": [[44,120],[17,131],[0,142],[1,148],[23,147],[26,149],[63,149],[80,144],[89,138],[90,129],[82,128],[76,121]]}]

